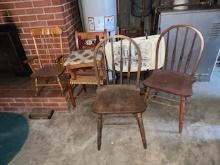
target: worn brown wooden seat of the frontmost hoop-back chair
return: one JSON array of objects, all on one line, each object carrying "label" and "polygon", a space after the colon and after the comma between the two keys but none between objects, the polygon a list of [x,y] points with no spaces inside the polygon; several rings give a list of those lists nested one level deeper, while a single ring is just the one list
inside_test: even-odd
[{"label": "worn brown wooden seat of the frontmost hoop-back chair", "polygon": [[97,89],[93,112],[101,114],[141,113],[145,111],[140,90],[134,85],[106,85]]}]

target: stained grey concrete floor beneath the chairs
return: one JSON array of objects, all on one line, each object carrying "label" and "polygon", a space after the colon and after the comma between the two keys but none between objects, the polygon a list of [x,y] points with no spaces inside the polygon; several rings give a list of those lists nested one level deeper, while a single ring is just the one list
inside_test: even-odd
[{"label": "stained grey concrete floor beneath the chairs", "polygon": [[[130,125],[104,125],[102,149],[96,147],[94,93],[78,99],[74,111],[51,120],[29,120],[30,134],[11,165],[219,165],[220,70],[210,82],[197,82],[189,99],[182,134],[178,111],[150,103],[144,112],[148,148],[144,150],[134,118]],[[106,122],[111,122],[106,118]]]}]

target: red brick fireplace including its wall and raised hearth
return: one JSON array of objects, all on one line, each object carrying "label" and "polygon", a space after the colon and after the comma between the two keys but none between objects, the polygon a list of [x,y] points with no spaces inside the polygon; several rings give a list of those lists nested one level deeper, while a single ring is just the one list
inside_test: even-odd
[{"label": "red brick fireplace including its wall and raised hearth", "polygon": [[[32,28],[56,25],[61,27],[65,54],[75,48],[75,31],[82,30],[77,0],[0,0],[0,25],[11,23],[16,25],[18,29],[27,57],[36,55],[33,39],[30,35]],[[37,63],[35,67],[38,67]],[[31,83],[30,78],[21,80],[12,78],[5,83],[1,81],[0,111],[35,108],[57,111],[68,109],[68,94],[61,96],[59,89],[54,89],[44,90],[41,96],[35,97],[34,86]]]}]

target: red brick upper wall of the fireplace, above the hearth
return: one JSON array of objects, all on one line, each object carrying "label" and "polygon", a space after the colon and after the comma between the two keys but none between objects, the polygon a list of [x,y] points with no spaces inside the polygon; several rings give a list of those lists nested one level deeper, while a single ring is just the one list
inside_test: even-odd
[{"label": "red brick upper wall of the fireplace, above the hearth", "polygon": [[18,27],[27,56],[36,55],[31,28],[61,27],[65,53],[75,47],[75,30],[82,29],[77,0],[0,0],[0,24],[7,22]]}]

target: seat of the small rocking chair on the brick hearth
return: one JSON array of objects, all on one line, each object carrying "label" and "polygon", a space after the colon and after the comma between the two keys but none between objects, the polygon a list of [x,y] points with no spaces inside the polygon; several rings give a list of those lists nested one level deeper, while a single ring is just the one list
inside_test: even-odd
[{"label": "seat of the small rocking chair on the brick hearth", "polygon": [[42,68],[36,70],[31,77],[54,77],[59,76],[64,72],[65,68],[60,64],[54,64],[54,65],[45,65]]}]

